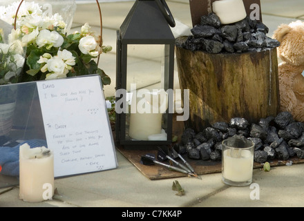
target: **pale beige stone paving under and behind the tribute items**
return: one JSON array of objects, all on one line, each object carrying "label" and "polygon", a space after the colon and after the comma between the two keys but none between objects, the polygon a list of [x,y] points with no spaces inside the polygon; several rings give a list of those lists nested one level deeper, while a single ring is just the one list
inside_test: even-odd
[{"label": "pale beige stone paving under and behind the tribute items", "polygon": [[[189,1],[167,0],[176,20],[191,26]],[[106,96],[114,95],[116,64],[116,30],[133,6],[133,1],[100,3],[103,18],[104,45],[113,46],[112,52],[102,55],[100,67],[111,77],[112,84],[105,86]],[[303,0],[261,0],[263,22],[269,27],[269,35],[281,23],[302,19]],[[99,30],[99,19],[95,3],[84,1],[78,4],[73,31],[84,22]],[[175,70],[175,75],[177,75]],[[175,77],[176,79],[176,77]],[[152,82],[153,83],[153,82]],[[146,79],[146,84],[151,82]],[[178,81],[175,80],[175,87]],[[53,200],[28,203],[19,200],[19,188],[13,186],[0,189],[0,206],[41,207],[207,207],[207,206],[304,206],[304,165],[277,166],[271,171],[254,170],[253,185],[245,187],[227,186],[221,182],[221,173],[201,175],[202,180],[189,177],[151,181],[119,151],[116,151],[117,169],[75,175],[55,180],[57,193]],[[185,195],[175,195],[171,186],[178,180]]]}]

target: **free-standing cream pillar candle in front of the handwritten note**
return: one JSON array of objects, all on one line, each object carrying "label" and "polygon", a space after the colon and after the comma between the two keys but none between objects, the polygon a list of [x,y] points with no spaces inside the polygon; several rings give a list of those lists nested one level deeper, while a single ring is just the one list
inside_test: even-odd
[{"label": "free-standing cream pillar candle in front of the handwritten note", "polygon": [[26,202],[51,200],[54,195],[54,155],[48,148],[19,150],[19,198]]}]

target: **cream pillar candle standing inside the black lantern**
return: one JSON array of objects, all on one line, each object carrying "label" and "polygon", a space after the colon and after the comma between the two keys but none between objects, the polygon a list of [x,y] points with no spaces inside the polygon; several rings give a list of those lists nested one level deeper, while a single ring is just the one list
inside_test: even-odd
[{"label": "cream pillar candle standing inside the black lantern", "polygon": [[167,93],[164,90],[133,93],[129,136],[136,140],[167,140],[167,134],[162,131],[162,115],[167,108]]}]

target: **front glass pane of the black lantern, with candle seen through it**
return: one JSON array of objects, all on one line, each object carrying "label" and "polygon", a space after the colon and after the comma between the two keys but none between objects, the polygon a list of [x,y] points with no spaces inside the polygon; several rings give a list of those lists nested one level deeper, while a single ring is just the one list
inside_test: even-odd
[{"label": "front glass pane of the black lantern, with candle seen through it", "polygon": [[127,46],[126,140],[167,140],[169,52],[163,44]]}]

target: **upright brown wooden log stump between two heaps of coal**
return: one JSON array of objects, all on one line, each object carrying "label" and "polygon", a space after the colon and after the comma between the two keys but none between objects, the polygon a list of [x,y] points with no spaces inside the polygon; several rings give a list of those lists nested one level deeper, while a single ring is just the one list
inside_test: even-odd
[{"label": "upright brown wooden log stump between two heaps of coal", "polygon": [[278,114],[276,48],[241,54],[209,54],[178,45],[182,44],[177,44],[175,50],[180,88],[182,92],[189,89],[186,127],[202,131],[215,122],[228,123],[232,117],[257,123],[260,118]]}]

